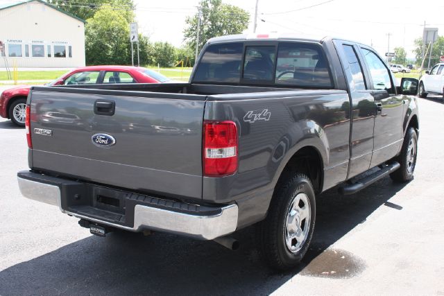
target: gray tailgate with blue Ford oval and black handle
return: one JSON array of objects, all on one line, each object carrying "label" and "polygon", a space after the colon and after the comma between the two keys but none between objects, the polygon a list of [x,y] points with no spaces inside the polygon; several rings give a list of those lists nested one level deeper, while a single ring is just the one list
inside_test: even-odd
[{"label": "gray tailgate with blue Ford oval and black handle", "polygon": [[36,87],[30,98],[33,169],[202,197],[205,96]]}]

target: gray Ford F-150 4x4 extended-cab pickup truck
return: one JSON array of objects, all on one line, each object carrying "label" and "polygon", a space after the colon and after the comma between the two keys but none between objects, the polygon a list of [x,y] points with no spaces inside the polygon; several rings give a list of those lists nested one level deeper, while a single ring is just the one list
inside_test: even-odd
[{"label": "gray Ford F-150 4x4 extended-cab pickup truck", "polygon": [[284,270],[307,252],[318,193],[413,178],[417,91],[356,42],[217,37],[189,83],[33,87],[19,188],[99,236],[234,248],[230,234],[256,224],[264,260]]}]

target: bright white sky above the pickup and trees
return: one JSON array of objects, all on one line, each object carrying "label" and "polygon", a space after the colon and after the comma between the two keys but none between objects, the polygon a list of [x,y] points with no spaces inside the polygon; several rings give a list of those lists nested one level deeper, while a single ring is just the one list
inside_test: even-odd
[{"label": "bright white sky above the pickup and trees", "polygon": [[[151,41],[182,44],[187,16],[198,0],[134,0],[139,33]],[[256,0],[223,0],[250,12],[244,33],[253,33]],[[414,58],[413,40],[422,37],[424,22],[444,34],[443,0],[258,0],[256,33],[330,35],[373,46],[381,55],[402,46]],[[388,35],[390,34],[390,35]],[[389,46],[389,47],[388,47]],[[444,53],[443,53],[444,54]]]}]

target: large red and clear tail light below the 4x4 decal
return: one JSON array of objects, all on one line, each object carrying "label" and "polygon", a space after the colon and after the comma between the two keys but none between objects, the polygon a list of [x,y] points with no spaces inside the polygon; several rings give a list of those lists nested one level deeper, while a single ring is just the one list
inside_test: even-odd
[{"label": "large red and clear tail light below the 4x4 decal", "polygon": [[204,121],[203,174],[232,175],[237,171],[237,127],[233,121]]}]

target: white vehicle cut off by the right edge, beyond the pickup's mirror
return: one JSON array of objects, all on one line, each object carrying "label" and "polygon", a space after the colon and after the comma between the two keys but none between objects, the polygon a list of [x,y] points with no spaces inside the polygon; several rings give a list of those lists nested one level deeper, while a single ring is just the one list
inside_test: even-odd
[{"label": "white vehicle cut off by the right edge, beyond the pickup's mirror", "polygon": [[444,100],[444,62],[434,65],[420,77],[418,95],[427,98],[427,94],[441,95]]}]

